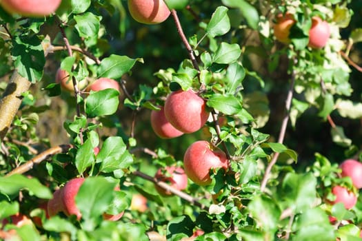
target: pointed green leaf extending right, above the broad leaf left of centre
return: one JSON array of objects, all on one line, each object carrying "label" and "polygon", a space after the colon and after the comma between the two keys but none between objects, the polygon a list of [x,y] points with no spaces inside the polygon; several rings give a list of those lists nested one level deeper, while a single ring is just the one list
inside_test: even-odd
[{"label": "pointed green leaf extending right, above the broad leaf left of centre", "polygon": [[143,59],[131,59],[128,56],[111,54],[101,61],[97,70],[97,76],[107,78],[121,78],[123,74],[129,72],[137,61],[143,63]]}]

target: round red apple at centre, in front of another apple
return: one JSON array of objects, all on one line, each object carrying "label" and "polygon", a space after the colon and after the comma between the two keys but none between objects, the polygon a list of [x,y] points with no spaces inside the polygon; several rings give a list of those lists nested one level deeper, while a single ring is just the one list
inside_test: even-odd
[{"label": "round red apple at centre, in front of another apple", "polygon": [[166,98],[165,116],[180,132],[192,133],[205,125],[210,113],[206,102],[193,90],[178,90]]}]

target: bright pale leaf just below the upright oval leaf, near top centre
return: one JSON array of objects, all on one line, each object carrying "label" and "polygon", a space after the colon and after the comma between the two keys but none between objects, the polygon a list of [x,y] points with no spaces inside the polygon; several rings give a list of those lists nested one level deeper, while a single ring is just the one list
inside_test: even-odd
[{"label": "bright pale leaf just below the upright oval leaf, near top centre", "polygon": [[217,51],[212,55],[212,62],[229,64],[239,59],[241,49],[237,43],[221,43]]}]

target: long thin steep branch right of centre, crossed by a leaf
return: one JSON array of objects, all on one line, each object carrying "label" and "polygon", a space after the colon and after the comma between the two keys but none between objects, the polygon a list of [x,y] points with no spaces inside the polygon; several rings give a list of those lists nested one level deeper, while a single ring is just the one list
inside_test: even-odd
[{"label": "long thin steep branch right of centre, crossed by a leaf", "polygon": [[[292,59],[294,65],[296,64],[296,59]],[[287,130],[288,127],[288,122],[289,122],[289,112],[290,112],[290,107],[292,106],[292,98],[293,98],[293,90],[294,90],[294,83],[295,83],[295,76],[296,76],[296,71],[293,70],[292,71],[292,76],[291,76],[291,81],[290,81],[290,87],[288,90],[288,95],[287,98],[285,100],[285,115],[283,118],[283,122],[281,123],[281,130],[279,132],[279,138],[278,138],[278,143],[283,143],[284,138],[285,138],[285,132]],[[276,160],[278,160],[279,157],[279,152],[276,152],[272,158],[272,160],[270,161],[270,163],[268,164],[268,167],[266,167],[265,169],[265,174],[263,176],[263,180],[261,180],[261,187],[260,190],[261,191],[265,191],[265,187],[268,183],[268,180],[270,178],[270,173],[272,172],[272,167],[275,165]]]}]

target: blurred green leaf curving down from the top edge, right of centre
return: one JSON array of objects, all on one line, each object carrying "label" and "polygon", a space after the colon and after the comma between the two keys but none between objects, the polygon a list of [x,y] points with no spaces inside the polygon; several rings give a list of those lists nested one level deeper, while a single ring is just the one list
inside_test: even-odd
[{"label": "blurred green leaf curving down from the top edge, right of centre", "polygon": [[222,0],[225,6],[230,8],[238,8],[245,17],[248,25],[257,30],[259,25],[259,13],[257,9],[245,0]]}]

